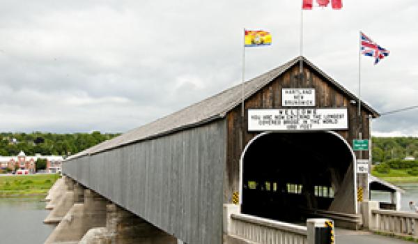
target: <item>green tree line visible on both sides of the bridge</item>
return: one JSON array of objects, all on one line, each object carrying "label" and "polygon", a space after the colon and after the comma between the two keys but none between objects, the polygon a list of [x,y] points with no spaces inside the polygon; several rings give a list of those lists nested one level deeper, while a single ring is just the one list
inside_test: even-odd
[{"label": "green tree line visible on both sides of the bridge", "polygon": [[[56,134],[45,132],[0,132],[0,155],[73,155],[120,134],[91,133]],[[411,156],[418,159],[417,137],[373,137],[373,163],[403,160]]]}]

